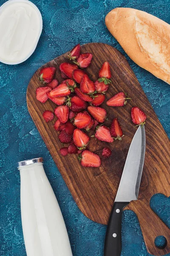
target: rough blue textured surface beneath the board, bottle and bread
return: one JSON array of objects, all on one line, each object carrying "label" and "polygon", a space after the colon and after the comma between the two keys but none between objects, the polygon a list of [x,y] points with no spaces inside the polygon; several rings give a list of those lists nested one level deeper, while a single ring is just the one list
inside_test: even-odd
[{"label": "rough blue textured surface beneath the board, bottle and bread", "polygon": [[[0,5],[5,1],[0,0]],[[27,110],[31,76],[75,44],[102,42],[125,52],[105,27],[115,7],[132,7],[170,23],[169,0],[32,0],[40,9],[43,30],[37,49],[23,64],[0,64],[0,255],[26,256],[20,216],[18,161],[43,157],[45,172],[59,201],[73,256],[102,256],[106,226],[79,211]],[[3,35],[0,35],[3,36]],[[125,54],[127,57],[127,55]],[[170,136],[170,85],[138,67],[128,57],[161,124]],[[154,197],[153,208],[170,225],[170,198]],[[163,210],[162,210],[163,209]],[[169,241],[170,242],[170,241]],[[139,222],[131,211],[122,220],[122,256],[148,256]],[[170,254],[168,254],[170,256]]]}]

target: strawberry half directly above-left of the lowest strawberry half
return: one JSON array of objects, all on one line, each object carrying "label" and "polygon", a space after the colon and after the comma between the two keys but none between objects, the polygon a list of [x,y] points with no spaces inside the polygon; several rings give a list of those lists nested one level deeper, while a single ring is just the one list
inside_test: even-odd
[{"label": "strawberry half directly above-left of the lowest strawberry half", "polygon": [[80,129],[75,129],[73,134],[74,144],[81,150],[87,146],[90,138]]}]

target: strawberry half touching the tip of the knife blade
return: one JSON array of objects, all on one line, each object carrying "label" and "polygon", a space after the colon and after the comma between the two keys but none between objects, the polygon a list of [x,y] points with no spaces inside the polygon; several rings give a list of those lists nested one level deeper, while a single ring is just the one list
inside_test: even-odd
[{"label": "strawberry half touching the tip of the knife blade", "polygon": [[132,122],[135,125],[142,125],[143,126],[145,124],[146,115],[140,108],[133,107],[131,109],[131,118],[132,118]]}]

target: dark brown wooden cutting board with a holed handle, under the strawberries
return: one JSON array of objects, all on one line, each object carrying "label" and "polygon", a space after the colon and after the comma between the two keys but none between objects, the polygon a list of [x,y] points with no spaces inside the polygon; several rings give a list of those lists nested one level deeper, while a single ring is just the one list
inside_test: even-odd
[{"label": "dark brown wooden cutting board with a holed handle, under the strawberries", "polygon": [[[108,223],[127,152],[137,129],[131,122],[130,110],[137,105],[146,113],[146,154],[139,200],[131,202],[125,209],[136,212],[148,252],[154,255],[169,253],[170,230],[150,209],[149,205],[150,198],[155,193],[170,195],[170,144],[168,137],[126,58],[118,50],[107,44],[85,44],[82,45],[81,50],[93,54],[91,65],[86,69],[93,81],[98,78],[98,72],[103,62],[108,61],[110,63],[112,84],[106,93],[107,100],[121,91],[126,92],[132,98],[124,107],[108,107],[105,104],[106,100],[101,106],[108,113],[109,121],[106,122],[106,125],[110,125],[111,120],[118,117],[125,137],[122,138],[122,141],[115,140],[111,144],[91,138],[92,142],[89,149],[101,156],[102,148],[109,146],[112,149],[111,157],[102,158],[102,165],[99,168],[83,168],[77,160],[77,155],[70,154],[63,157],[59,153],[62,144],[57,138],[58,132],[53,127],[57,117],[49,123],[46,123],[42,117],[45,110],[54,111],[56,105],[50,100],[42,104],[36,99],[37,87],[43,86],[38,80],[40,70],[36,71],[28,84],[28,111],[79,209],[91,220],[102,224]],[[59,64],[68,62],[67,54],[65,53],[42,66],[56,67],[55,78],[59,82],[63,80],[60,75]],[[164,250],[160,250],[154,245],[154,239],[159,235],[167,238],[168,244]]]}]

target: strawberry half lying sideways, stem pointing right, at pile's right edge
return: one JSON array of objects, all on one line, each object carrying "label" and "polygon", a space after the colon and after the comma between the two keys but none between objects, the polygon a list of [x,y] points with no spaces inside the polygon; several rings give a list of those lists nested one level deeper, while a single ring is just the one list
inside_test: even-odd
[{"label": "strawberry half lying sideways, stem pointing right, at pile's right edge", "polygon": [[127,99],[131,99],[131,98],[126,98],[126,94],[121,92],[114,95],[111,99],[109,99],[106,102],[106,104],[112,107],[122,107],[126,105]]}]

